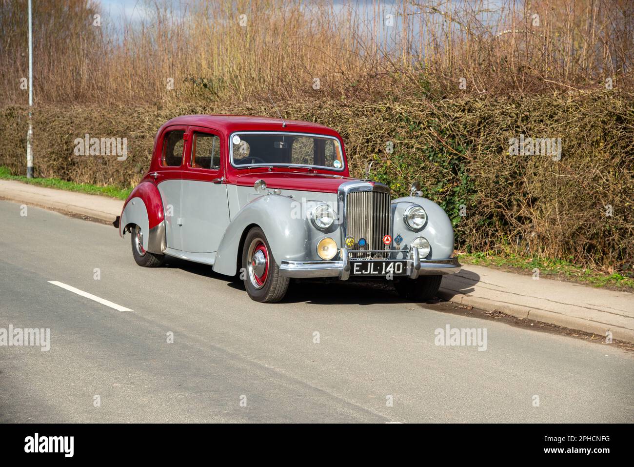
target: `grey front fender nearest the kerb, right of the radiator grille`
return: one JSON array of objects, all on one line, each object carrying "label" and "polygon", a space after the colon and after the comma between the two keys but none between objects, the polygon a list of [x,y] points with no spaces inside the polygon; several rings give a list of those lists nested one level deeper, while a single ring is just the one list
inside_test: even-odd
[{"label": "grey front fender nearest the kerb, right of the radiator grille", "polygon": [[[427,212],[427,223],[421,230],[414,232],[405,225],[403,216],[405,209],[411,204],[418,204]],[[453,227],[444,209],[426,198],[406,196],[392,200],[392,239],[398,235],[403,237],[401,248],[409,246],[416,237],[425,237],[431,246],[427,258],[444,260],[453,255]]]}]

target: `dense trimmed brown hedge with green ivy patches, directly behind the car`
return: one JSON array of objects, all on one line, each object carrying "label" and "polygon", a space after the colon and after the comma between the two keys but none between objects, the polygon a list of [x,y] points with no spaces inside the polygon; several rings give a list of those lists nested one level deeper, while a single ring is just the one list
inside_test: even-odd
[{"label": "dense trimmed brown hedge with green ivy patches, directly behind the car", "polygon": [[[634,99],[617,91],[515,100],[277,103],[289,119],[343,136],[352,172],[404,195],[412,181],[446,209],[458,247],[518,250],[588,266],[634,263]],[[134,185],[159,126],[184,114],[276,115],[269,102],[169,107],[41,107],[34,111],[37,176]],[[0,165],[25,172],[27,109],[0,110]],[[74,155],[75,138],[127,138],[128,157]],[[510,139],[561,138],[559,161],[510,154]],[[556,159],[556,158],[555,158]]]}]

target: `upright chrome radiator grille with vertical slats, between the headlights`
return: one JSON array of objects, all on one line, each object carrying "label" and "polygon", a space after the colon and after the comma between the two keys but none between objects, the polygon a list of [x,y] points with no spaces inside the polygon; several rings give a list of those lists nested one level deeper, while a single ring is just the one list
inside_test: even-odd
[{"label": "upright chrome radiator grille with vertical slats, between the headlights", "polygon": [[[383,250],[383,237],[391,232],[391,199],[389,193],[351,192],[346,199],[346,236],[353,237],[354,249],[359,239],[366,239],[366,250]],[[389,254],[380,253],[381,258]],[[356,258],[370,258],[370,253],[355,253]]]}]

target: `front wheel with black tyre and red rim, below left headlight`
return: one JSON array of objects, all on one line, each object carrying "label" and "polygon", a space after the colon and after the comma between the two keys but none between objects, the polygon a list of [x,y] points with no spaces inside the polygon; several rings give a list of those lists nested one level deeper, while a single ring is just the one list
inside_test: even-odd
[{"label": "front wheel with black tyre and red rim, below left headlight", "polygon": [[280,274],[269,242],[259,227],[249,230],[242,247],[244,286],[250,298],[262,303],[276,303],[288,290],[288,277]]}]

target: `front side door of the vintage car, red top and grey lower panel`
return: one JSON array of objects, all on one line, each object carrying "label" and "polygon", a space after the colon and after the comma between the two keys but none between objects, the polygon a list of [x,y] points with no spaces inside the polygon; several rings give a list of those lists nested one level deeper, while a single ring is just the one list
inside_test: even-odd
[{"label": "front side door of the vintage car, red top and grey lower panel", "polygon": [[214,253],[229,225],[227,187],[219,131],[190,127],[183,171],[183,251]]}]

